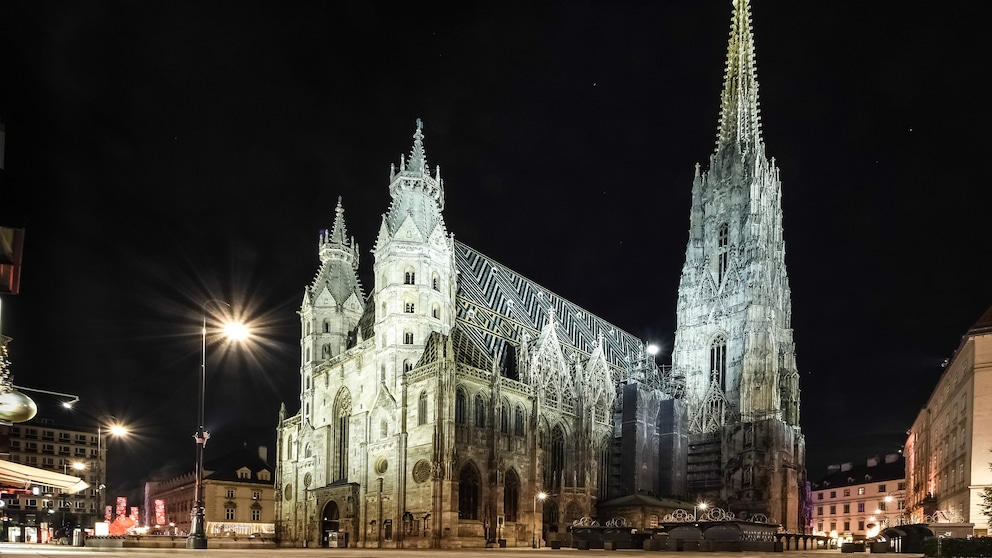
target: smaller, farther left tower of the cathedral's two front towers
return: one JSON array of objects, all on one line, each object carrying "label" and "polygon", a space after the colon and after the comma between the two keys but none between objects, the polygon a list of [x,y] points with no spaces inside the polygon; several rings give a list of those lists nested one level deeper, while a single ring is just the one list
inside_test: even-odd
[{"label": "smaller, farther left tower of the cathedral's two front towers", "polygon": [[331,230],[317,241],[320,267],[303,291],[300,306],[301,405],[304,420],[312,410],[313,372],[356,342],[358,320],[365,309],[365,295],[358,280],[358,244],[348,238],[344,208],[338,198]]}]

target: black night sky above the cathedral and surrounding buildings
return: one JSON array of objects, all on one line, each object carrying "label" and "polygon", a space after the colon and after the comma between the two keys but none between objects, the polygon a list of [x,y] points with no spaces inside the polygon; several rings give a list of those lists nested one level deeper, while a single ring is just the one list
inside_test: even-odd
[{"label": "black night sky above the cathedral and surrounding buildings", "polygon": [[[730,0],[429,4],[0,4],[0,226],[26,229],[3,333],[17,385],[82,398],[39,419],[129,425],[111,491],[192,469],[208,299],[257,335],[208,346],[207,455],[272,455],[318,232],[341,196],[371,288],[417,118],[449,232],[669,362]],[[753,12],[815,478],[897,451],[992,305],[992,3]]]}]

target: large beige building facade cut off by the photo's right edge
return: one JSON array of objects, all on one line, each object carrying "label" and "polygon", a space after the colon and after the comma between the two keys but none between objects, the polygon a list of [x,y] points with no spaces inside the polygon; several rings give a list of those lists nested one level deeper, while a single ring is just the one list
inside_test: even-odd
[{"label": "large beige building facade cut off by the photo's right edge", "polygon": [[987,536],[979,508],[992,486],[992,307],[964,334],[909,430],[904,453],[908,510],[917,523],[972,523]]}]

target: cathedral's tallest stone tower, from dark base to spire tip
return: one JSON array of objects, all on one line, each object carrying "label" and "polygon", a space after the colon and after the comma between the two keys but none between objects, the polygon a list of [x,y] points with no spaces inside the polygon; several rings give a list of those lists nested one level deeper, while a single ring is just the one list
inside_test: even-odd
[{"label": "cathedral's tallest stone tower, from dark base to spire tip", "polygon": [[693,180],[672,368],[685,382],[690,495],[795,532],[805,509],[805,442],[791,313],[750,3],[735,0],[716,149]]}]

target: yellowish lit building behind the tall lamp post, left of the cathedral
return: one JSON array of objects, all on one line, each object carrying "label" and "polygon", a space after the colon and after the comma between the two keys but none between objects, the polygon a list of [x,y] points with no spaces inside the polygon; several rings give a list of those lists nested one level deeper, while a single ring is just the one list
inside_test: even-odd
[{"label": "yellowish lit building behind the tall lamp post, left of the cathedral", "polygon": [[[144,518],[150,532],[187,535],[196,478],[188,471],[145,483]],[[242,449],[203,464],[207,537],[275,535],[273,471],[268,450]]]}]

